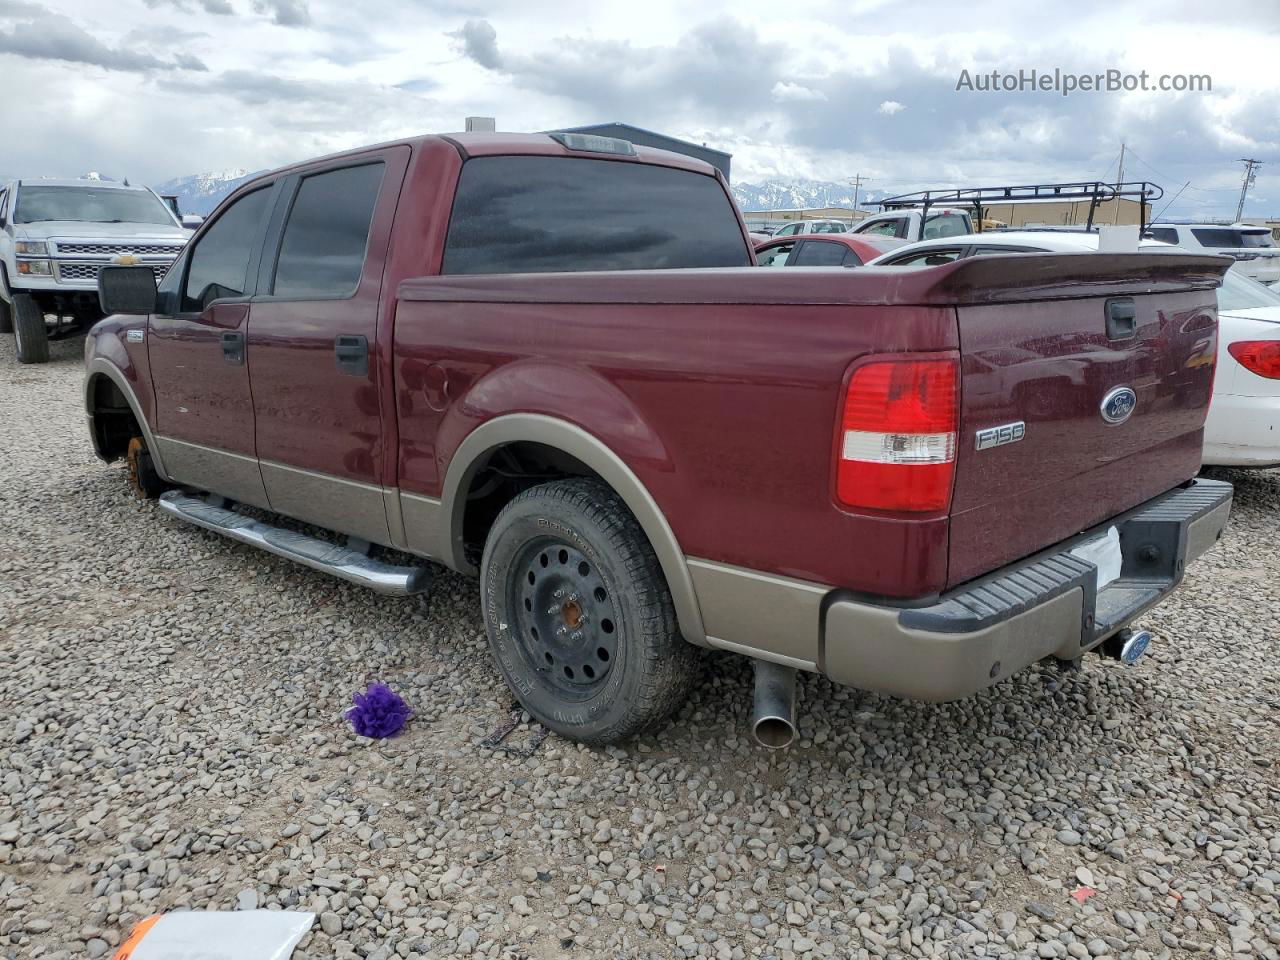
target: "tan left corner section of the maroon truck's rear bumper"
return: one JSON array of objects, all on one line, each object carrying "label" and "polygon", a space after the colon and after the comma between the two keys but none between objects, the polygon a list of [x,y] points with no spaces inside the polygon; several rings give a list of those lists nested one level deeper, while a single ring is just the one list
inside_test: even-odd
[{"label": "tan left corner section of the maroon truck's rear bumper", "polygon": [[956,700],[1046,657],[1076,655],[1083,603],[1074,589],[984,630],[934,634],[902,627],[892,608],[837,602],[827,609],[824,672],[863,690]]}]

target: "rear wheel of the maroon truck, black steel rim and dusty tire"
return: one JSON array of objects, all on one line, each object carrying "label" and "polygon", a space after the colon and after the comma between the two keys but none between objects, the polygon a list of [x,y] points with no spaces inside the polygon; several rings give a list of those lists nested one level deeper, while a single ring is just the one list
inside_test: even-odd
[{"label": "rear wheel of the maroon truck, black steel rim and dusty tire", "polygon": [[620,742],[666,721],[698,678],[653,547],[604,484],[521,493],[494,521],[480,570],[498,669],[557,733]]}]

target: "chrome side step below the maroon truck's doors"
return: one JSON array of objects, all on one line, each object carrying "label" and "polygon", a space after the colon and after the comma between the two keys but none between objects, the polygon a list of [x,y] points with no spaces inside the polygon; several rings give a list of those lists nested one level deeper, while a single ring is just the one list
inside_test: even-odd
[{"label": "chrome side step below the maroon truck's doors", "polygon": [[163,493],[160,509],[188,524],[229,536],[232,540],[257,547],[276,557],[296,561],[389,596],[421,594],[430,586],[431,572],[428,567],[397,567],[383,563],[347,547],[246,517],[243,513],[219,507],[182,490]]}]

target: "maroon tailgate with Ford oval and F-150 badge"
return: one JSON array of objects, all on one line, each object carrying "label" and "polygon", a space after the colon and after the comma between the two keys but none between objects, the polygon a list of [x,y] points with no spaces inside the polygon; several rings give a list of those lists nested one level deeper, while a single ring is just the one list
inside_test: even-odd
[{"label": "maroon tailgate with Ford oval and F-150 badge", "polygon": [[1213,287],[1229,261],[1036,255],[1010,269],[1012,259],[972,264],[968,302],[957,298],[948,586],[1123,513],[1201,463]]}]

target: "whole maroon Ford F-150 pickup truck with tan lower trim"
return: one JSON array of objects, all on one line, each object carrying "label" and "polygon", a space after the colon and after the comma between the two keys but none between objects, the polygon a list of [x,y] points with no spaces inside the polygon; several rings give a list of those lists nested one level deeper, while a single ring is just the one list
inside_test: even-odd
[{"label": "whole maroon Ford F-150 pickup truck with tan lower trim", "polygon": [[716,170],[625,141],[298,164],[159,291],[102,271],[90,431],[236,540],[390,594],[477,573],[503,677],[586,742],[666,718],[699,646],[754,658],[772,745],[797,669],[947,700],[1135,659],[1230,509],[1196,479],[1229,261],[753,262]]}]

